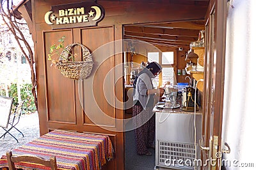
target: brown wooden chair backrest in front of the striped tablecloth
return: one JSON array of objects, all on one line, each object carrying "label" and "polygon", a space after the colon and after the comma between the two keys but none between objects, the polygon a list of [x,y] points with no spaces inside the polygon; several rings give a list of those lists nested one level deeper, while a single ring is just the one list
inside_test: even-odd
[{"label": "brown wooden chair backrest in front of the striped tablecloth", "polygon": [[57,170],[57,163],[56,157],[51,156],[49,160],[46,160],[41,157],[35,157],[33,155],[20,155],[20,156],[13,156],[12,152],[6,152],[6,157],[8,161],[9,170],[15,170],[14,163],[17,162],[30,162],[34,164],[42,164],[46,167],[51,167],[51,170]]}]

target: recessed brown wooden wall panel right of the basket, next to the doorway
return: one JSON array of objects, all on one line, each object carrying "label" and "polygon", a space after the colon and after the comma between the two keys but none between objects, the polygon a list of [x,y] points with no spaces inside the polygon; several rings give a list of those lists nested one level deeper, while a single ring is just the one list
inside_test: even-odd
[{"label": "recessed brown wooden wall panel right of the basket, next to the doorway", "polygon": [[[84,81],[85,112],[93,114],[93,118],[97,120],[96,124],[115,127],[115,120],[109,118],[106,121],[102,118],[102,114],[115,118],[115,108],[106,100],[106,96],[112,103],[115,99],[115,71],[109,72],[115,67],[115,58],[112,55],[114,46],[112,43],[109,44],[111,41],[114,41],[113,27],[81,29],[81,42],[91,50],[93,57],[92,73]],[[104,90],[104,85],[108,86],[108,90]],[[86,115],[84,115],[84,124],[92,124]]]}]

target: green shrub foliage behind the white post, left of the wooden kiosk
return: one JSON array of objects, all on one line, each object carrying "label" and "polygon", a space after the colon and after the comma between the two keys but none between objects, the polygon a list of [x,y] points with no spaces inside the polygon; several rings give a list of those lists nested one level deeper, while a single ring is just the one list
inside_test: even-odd
[{"label": "green shrub foliage behind the white post, left of the wooden kiosk", "polygon": [[[22,100],[25,100],[24,103],[24,113],[33,113],[36,111],[36,106],[34,103],[34,97],[31,92],[32,85],[29,83],[23,84],[20,87],[20,96]],[[17,93],[17,84],[12,83],[9,87],[9,96],[13,97],[13,106],[18,104],[18,93]]]}]

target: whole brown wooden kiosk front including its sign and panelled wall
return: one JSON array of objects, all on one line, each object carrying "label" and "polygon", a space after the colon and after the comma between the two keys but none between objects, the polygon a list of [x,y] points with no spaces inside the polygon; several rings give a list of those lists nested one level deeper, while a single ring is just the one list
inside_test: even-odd
[{"label": "whole brown wooden kiosk front including its sign and panelled wall", "polygon": [[[51,67],[51,61],[47,60],[49,46],[58,43],[58,39],[65,36],[65,45],[81,43],[90,52],[94,52],[102,45],[123,39],[124,26],[132,24],[138,25],[134,29],[141,29],[146,32],[145,34],[150,34],[146,31],[148,26],[140,27],[140,24],[158,24],[157,29],[154,27],[148,29],[156,36],[157,32],[154,31],[163,31],[163,34],[167,34],[164,31],[170,24],[172,26],[168,27],[174,28],[173,38],[175,38],[175,34],[184,31],[179,29],[180,27],[195,27],[195,25],[191,25],[195,21],[203,23],[200,24],[200,29],[204,27],[208,8],[209,1],[207,0],[103,0],[82,3],[78,0],[23,1],[17,10],[29,23],[35,43],[40,134],[46,134],[54,129],[108,134],[115,148],[115,159],[108,162],[102,169],[124,169],[124,132],[118,131],[118,127],[123,127],[124,124],[115,121],[115,119],[124,119],[124,110],[122,110],[122,106],[118,105],[118,101],[124,101],[124,81],[120,78],[123,69],[115,67],[124,62],[124,56],[122,53],[113,55],[111,53],[122,49],[122,46],[110,45],[106,51],[109,53],[109,57],[97,55],[97,53],[93,55],[93,76],[89,76],[81,83],[84,89],[83,96],[79,96],[79,81],[66,78],[58,69]],[[182,25],[177,24],[177,21],[183,21]],[[191,37],[193,37],[192,41],[196,41],[196,36]],[[161,43],[161,36],[151,39],[154,39],[152,43]],[[179,52],[179,43],[182,45],[180,41],[176,42],[178,45],[170,43],[169,47],[162,47],[176,48],[177,67],[184,67],[184,64],[180,62],[184,59],[182,58],[184,53]],[[189,45],[184,45],[183,48],[189,49]],[[76,48],[75,52],[81,54],[81,49]],[[76,60],[82,60],[82,55],[79,55]],[[107,87],[111,89],[108,91],[108,96],[113,104],[109,104],[104,97],[106,89],[103,87],[107,75]],[[116,78],[118,78],[117,81]],[[87,106],[90,106],[86,110],[83,110],[81,99],[86,101]],[[88,113],[99,120],[97,124],[88,117]],[[114,119],[105,120],[101,113]]]}]

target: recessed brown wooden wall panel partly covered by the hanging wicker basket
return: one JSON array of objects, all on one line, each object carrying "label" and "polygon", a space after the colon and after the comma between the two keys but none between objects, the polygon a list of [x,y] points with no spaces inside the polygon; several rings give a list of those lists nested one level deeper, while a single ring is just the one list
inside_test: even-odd
[{"label": "recessed brown wooden wall panel partly covered by the hanging wicker basket", "polygon": [[[51,60],[47,59],[49,47],[53,44],[58,45],[58,39],[63,36],[66,37],[65,45],[72,42],[72,30],[44,32],[45,99],[47,102],[47,118],[48,121],[51,122],[76,124],[74,80],[62,76],[56,67],[51,66]],[[59,55],[53,55],[52,59],[58,60]]]}]

